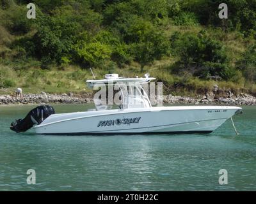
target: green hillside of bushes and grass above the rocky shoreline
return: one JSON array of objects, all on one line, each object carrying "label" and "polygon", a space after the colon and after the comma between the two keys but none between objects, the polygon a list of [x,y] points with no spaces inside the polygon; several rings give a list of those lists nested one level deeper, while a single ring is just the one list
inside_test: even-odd
[{"label": "green hillside of bushes and grass above the rocky shoreline", "polygon": [[90,68],[150,73],[172,94],[256,94],[255,19],[255,0],[0,0],[0,94],[88,91]]}]

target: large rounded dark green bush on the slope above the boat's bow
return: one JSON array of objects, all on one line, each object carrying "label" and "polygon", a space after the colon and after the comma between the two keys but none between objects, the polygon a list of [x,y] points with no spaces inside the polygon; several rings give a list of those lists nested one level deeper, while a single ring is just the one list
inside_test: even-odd
[{"label": "large rounded dark green bush on the slope above the boat's bow", "polygon": [[[179,55],[179,64],[194,76],[208,78],[213,75],[228,80],[232,77],[232,68],[228,64],[223,45],[212,40],[204,31],[196,34],[175,33],[171,38],[172,52]],[[177,66],[174,71],[179,72]]]}]

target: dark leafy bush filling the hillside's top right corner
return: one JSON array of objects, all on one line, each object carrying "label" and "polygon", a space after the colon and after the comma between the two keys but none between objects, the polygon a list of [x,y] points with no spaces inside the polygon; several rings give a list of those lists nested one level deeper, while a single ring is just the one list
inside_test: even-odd
[{"label": "dark leafy bush filling the hillside's top right corner", "polygon": [[[228,19],[220,20],[218,17],[218,6],[221,3],[228,5]],[[250,29],[256,30],[256,4],[252,0],[183,1],[182,8],[195,13],[203,25],[239,29],[246,34]]]}]

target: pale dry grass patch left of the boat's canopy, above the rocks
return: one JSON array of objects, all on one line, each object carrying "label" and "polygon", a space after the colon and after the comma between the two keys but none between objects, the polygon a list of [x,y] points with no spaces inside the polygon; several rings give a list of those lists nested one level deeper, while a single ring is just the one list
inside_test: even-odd
[{"label": "pale dry grass patch left of the boat's canopy, above the rocks", "polygon": [[[79,68],[69,68],[63,71],[57,68],[52,68],[51,70],[42,70],[40,68],[15,70],[8,66],[0,65],[1,82],[9,79],[15,84],[0,89],[0,94],[11,94],[15,91],[15,87],[22,87],[24,92],[29,93],[40,93],[42,91],[49,93],[88,91],[84,80],[90,78],[90,75],[88,70],[81,70]],[[0,86],[3,87],[1,82]]]}]

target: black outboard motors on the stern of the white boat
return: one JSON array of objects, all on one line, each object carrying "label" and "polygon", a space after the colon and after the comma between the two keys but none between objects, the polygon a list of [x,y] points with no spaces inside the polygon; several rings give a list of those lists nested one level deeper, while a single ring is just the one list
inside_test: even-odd
[{"label": "black outboard motors on the stern of the white boat", "polygon": [[28,129],[32,128],[33,125],[40,124],[54,113],[55,111],[52,106],[37,106],[31,110],[24,119],[17,119],[15,122],[12,122],[10,129],[16,133],[26,132]]}]

